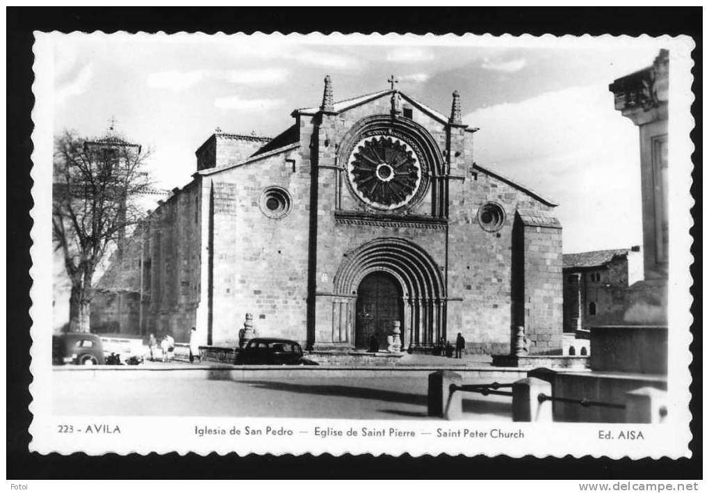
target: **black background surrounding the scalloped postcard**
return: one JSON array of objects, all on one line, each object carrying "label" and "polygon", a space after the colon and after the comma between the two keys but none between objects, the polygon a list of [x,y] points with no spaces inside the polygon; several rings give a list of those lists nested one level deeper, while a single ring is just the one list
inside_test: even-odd
[{"label": "black background surrounding the scalloped postcard", "polygon": [[[302,455],[282,457],[235,454],[206,457],[176,453],[167,455],[115,455],[89,457],[85,454],[39,455],[28,452],[30,436],[28,384],[30,348],[30,306],[28,275],[32,206],[30,196],[30,153],[32,152],[30,111],[32,31],[177,31],[225,33],[262,31],[281,33],[320,31],[330,33],[530,33],[542,35],[690,35],[693,52],[692,138],[696,145],[694,183],[701,184],[701,60],[702,9],[696,8],[566,8],[566,9],[118,9],[104,8],[12,8],[7,14],[7,478],[8,479],[108,479],[108,478],[457,478],[457,479],[698,479],[702,477],[701,402],[701,312],[692,313],[695,323],[691,349],[693,395],[691,423],[693,458],[680,460],[610,460],[608,458],[512,459],[506,456],[464,458],[462,456],[400,458],[349,455]],[[651,60],[648,60],[650,63]],[[701,272],[701,193],[693,196],[695,223],[692,253],[694,279]],[[694,299],[701,299],[701,285],[693,287]],[[569,437],[572,439],[572,437]]]}]

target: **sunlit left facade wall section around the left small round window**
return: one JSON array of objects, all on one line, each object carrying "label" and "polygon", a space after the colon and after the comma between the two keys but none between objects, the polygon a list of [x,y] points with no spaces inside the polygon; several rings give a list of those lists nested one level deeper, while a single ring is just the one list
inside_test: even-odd
[{"label": "sunlit left facade wall section around the left small round window", "polygon": [[[296,160],[296,170],[294,163]],[[233,346],[245,314],[259,336],[306,341],[310,177],[298,151],[209,177],[213,193],[213,344]],[[269,187],[286,189],[291,210],[263,210]]]}]

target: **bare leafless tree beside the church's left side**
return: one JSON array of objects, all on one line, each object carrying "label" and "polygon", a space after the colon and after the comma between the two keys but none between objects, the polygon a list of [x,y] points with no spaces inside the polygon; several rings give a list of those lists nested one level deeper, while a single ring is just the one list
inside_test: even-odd
[{"label": "bare leafless tree beside the church's left side", "polygon": [[136,199],[150,187],[149,154],[113,132],[87,140],[65,131],[55,139],[52,233],[72,283],[70,331],[89,332],[96,267],[113,248],[120,255],[142,216]]}]

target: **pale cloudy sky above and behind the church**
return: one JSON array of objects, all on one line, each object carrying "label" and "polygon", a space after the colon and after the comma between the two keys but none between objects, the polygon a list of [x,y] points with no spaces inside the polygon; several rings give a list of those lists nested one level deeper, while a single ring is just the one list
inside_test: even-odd
[{"label": "pale cloudy sky above and behind the church", "polygon": [[652,40],[65,35],[55,45],[55,133],[106,131],[152,148],[159,187],[189,182],[219,126],[273,136],[295,108],[398,88],[450,112],[461,94],[475,160],[560,205],[564,252],[642,244],[637,128],[608,84],[652,63]]}]

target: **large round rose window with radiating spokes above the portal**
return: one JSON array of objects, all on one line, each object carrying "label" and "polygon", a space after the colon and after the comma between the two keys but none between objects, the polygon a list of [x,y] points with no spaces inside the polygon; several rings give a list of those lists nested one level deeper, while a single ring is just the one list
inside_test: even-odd
[{"label": "large round rose window with radiating spokes above the portal", "polygon": [[347,163],[354,193],[376,209],[408,204],[421,185],[421,165],[408,144],[378,135],[360,140]]}]

